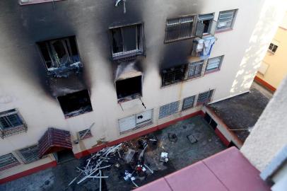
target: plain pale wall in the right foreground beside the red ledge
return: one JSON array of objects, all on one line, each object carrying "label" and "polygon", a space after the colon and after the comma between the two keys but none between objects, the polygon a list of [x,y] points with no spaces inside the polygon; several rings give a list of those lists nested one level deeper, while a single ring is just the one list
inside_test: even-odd
[{"label": "plain pale wall in the right foreground beside the red ledge", "polygon": [[241,151],[259,170],[264,170],[287,144],[287,79],[259,117]]}]

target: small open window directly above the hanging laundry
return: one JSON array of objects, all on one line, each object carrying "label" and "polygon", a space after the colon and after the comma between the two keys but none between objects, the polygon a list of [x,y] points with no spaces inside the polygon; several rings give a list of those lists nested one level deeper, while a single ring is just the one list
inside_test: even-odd
[{"label": "small open window directly above the hanging laundry", "polygon": [[217,21],[213,20],[214,16],[213,13],[199,15],[199,23],[202,23],[204,25],[203,34],[207,35],[214,35]]}]

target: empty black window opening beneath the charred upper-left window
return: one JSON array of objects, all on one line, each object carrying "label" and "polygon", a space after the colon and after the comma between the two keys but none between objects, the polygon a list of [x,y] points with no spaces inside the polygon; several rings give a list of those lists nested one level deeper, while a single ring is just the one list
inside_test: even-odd
[{"label": "empty black window opening beneath the charred upper-left window", "polygon": [[66,118],[93,111],[88,90],[57,97]]}]

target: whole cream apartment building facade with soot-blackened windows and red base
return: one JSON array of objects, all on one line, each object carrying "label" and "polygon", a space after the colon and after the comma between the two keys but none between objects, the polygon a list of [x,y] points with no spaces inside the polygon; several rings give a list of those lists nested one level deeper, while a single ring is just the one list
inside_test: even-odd
[{"label": "whole cream apartment building facade with soot-blackened windows and red base", "polygon": [[276,30],[270,4],[1,1],[0,183],[247,92]]}]

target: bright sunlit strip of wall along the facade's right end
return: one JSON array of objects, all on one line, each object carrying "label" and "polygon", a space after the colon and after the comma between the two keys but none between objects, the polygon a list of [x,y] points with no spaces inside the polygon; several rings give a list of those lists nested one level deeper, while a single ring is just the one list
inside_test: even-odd
[{"label": "bright sunlit strip of wall along the facade's right end", "polygon": [[[284,11],[281,7],[285,7],[283,3],[275,4],[271,1],[266,1],[263,5],[259,21],[255,25],[249,45],[245,50],[245,56],[242,58],[240,68],[230,89],[231,95],[247,91],[250,88],[257,69],[259,69],[266,54],[269,42],[276,33],[279,18],[283,17]],[[282,10],[279,10],[280,8]]]}]

